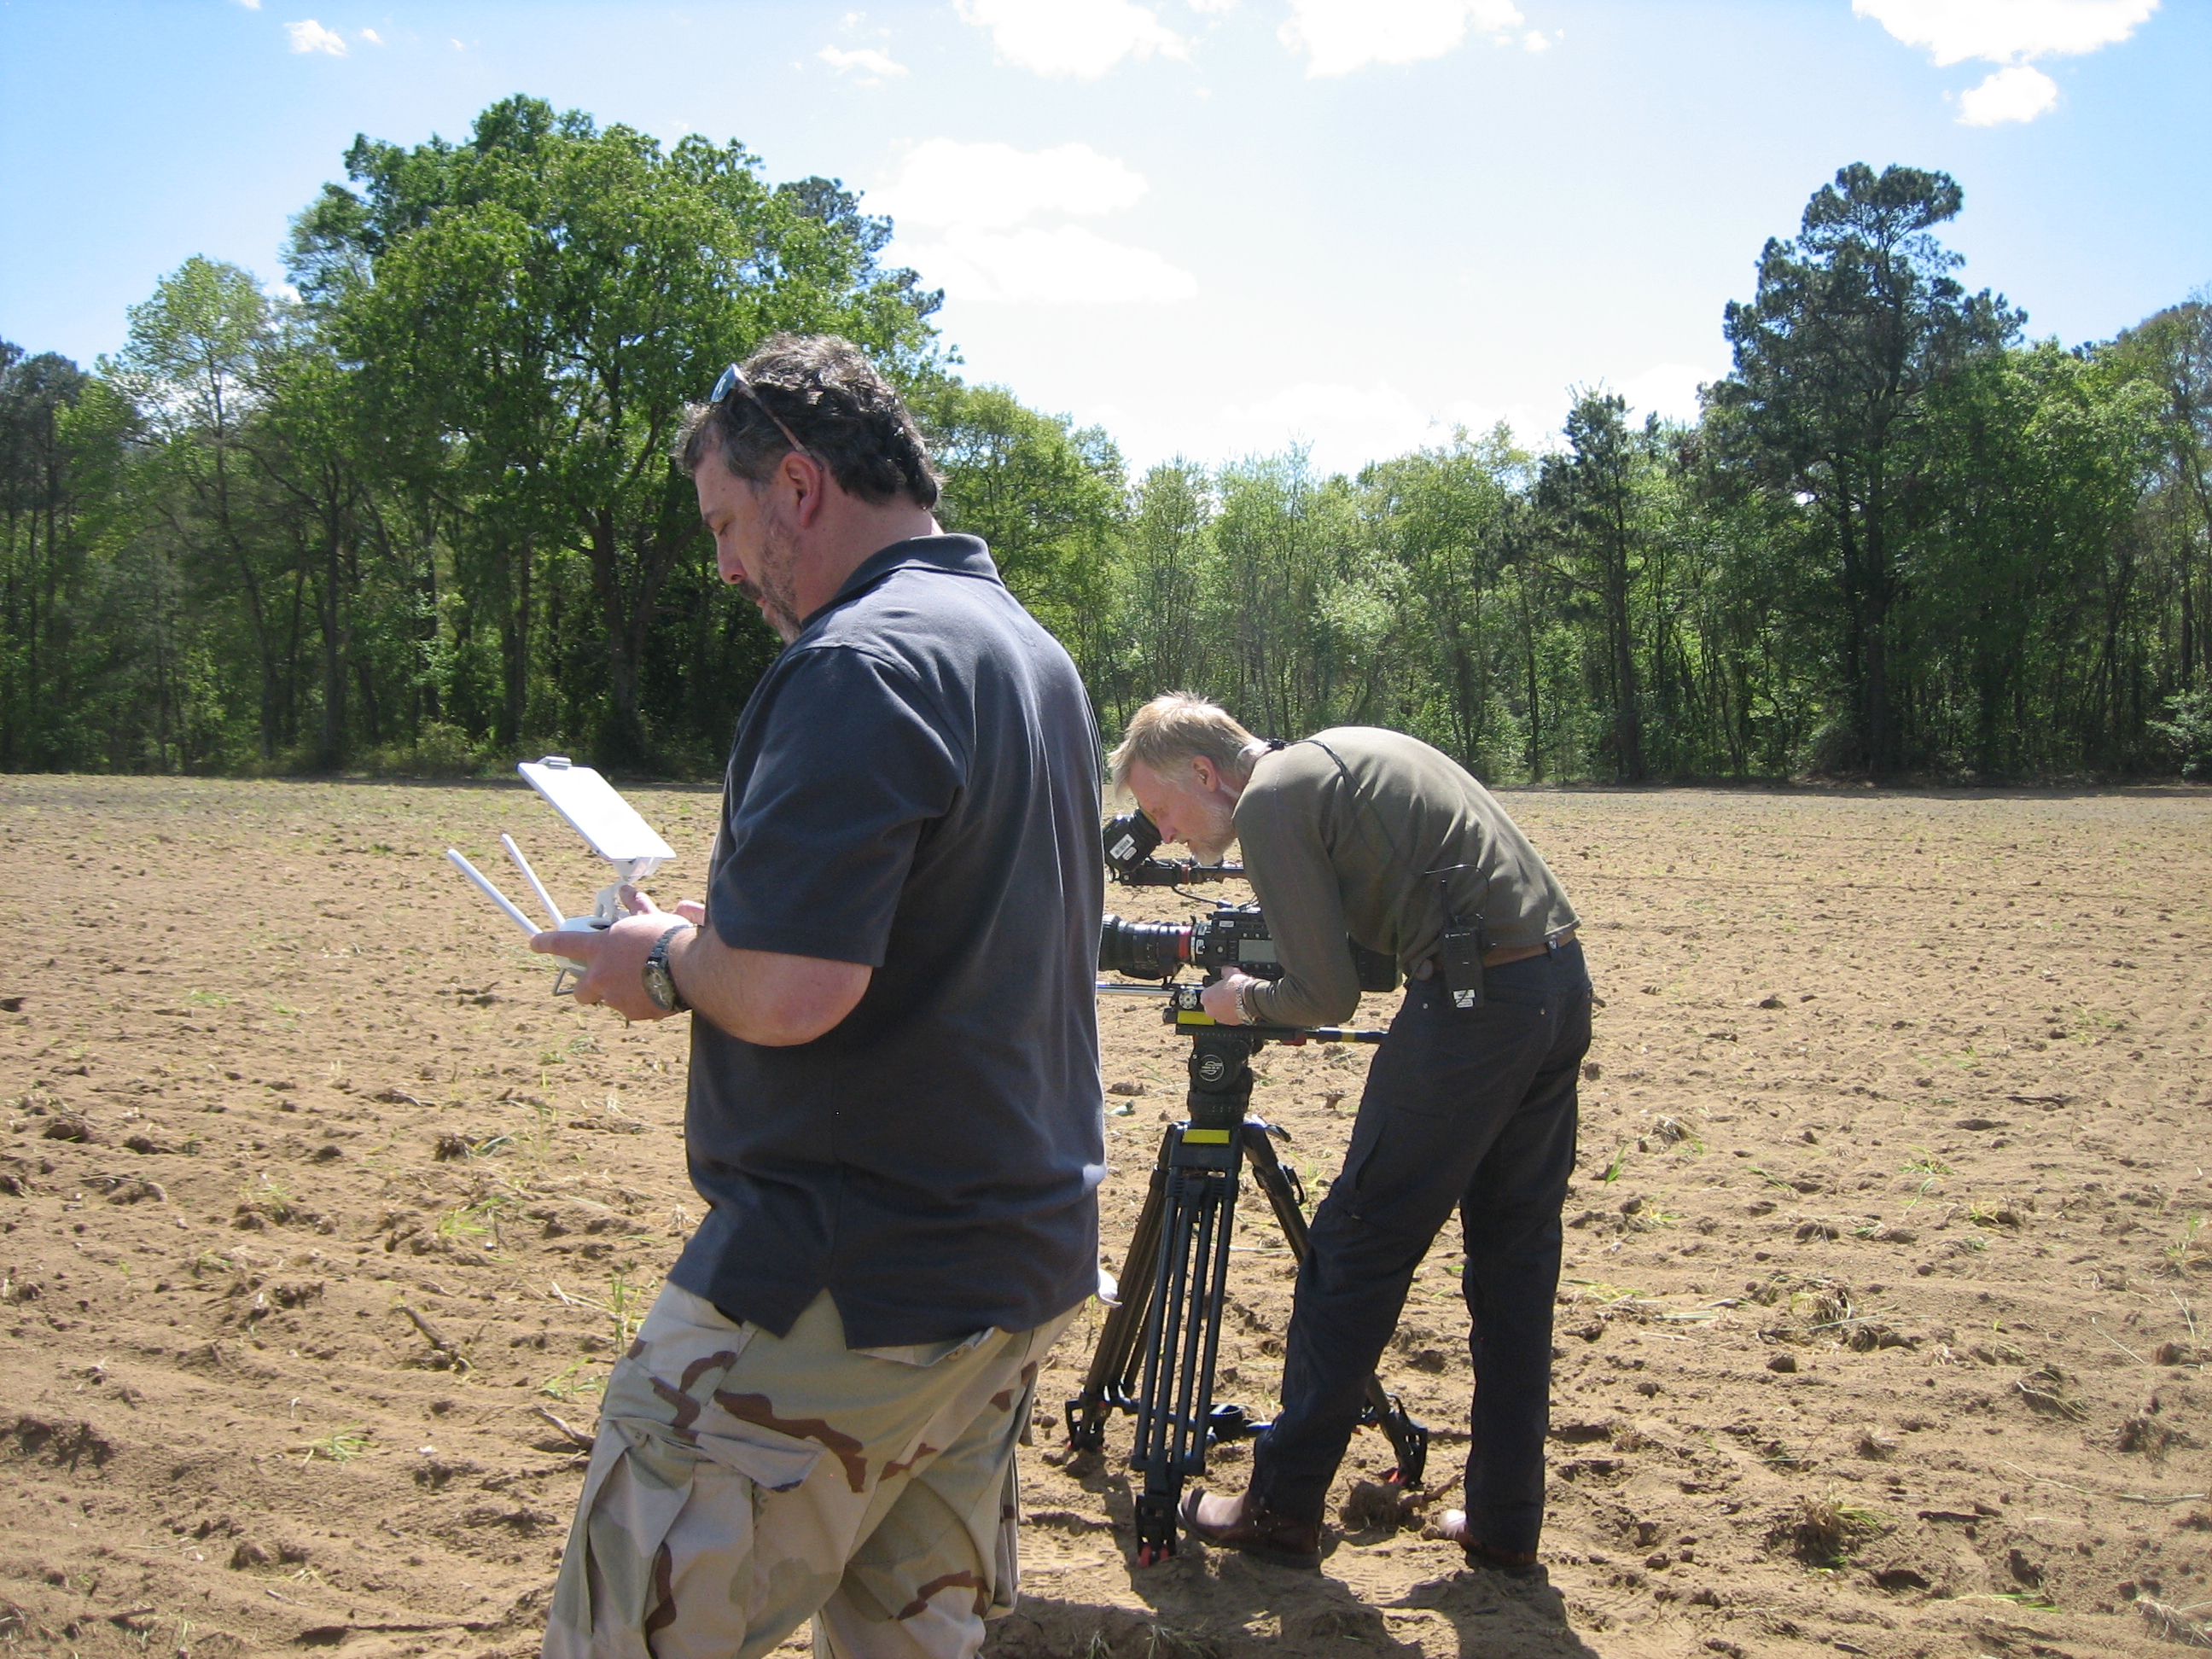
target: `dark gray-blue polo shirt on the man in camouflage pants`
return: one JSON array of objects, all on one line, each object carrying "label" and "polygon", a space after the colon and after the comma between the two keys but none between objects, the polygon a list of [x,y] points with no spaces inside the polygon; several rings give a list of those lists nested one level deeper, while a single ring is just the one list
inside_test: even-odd
[{"label": "dark gray-blue polo shirt on the man in camouflage pants", "polygon": [[852,1347],[1029,1329],[1097,1287],[1099,741],[971,535],[869,557],[739,717],[708,876],[730,947],[867,962],[830,1033],[692,1015],[712,1206],[670,1279]]}]

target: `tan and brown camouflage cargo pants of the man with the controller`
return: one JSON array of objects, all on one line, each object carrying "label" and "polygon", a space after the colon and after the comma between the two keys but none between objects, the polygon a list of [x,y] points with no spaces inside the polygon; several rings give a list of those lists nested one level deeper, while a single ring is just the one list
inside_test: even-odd
[{"label": "tan and brown camouflage cargo pants of the man with the controller", "polygon": [[615,1365],[544,1659],[752,1659],[814,1619],[836,1659],[969,1659],[1013,1608],[1013,1449],[1075,1316],[847,1349],[668,1285]]}]

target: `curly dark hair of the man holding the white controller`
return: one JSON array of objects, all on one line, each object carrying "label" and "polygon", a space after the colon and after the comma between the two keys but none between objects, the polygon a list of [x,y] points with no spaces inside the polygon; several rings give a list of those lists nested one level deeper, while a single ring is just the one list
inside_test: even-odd
[{"label": "curly dark hair of the man holding the white controller", "polygon": [[[765,484],[796,438],[847,495],[878,507],[896,495],[916,507],[938,504],[929,445],[858,345],[836,334],[776,334],[743,369],[752,398],[732,392],[721,403],[690,407],[677,440],[684,471],[699,471],[719,453],[737,478]],[[790,438],[776,420],[790,427]]]}]

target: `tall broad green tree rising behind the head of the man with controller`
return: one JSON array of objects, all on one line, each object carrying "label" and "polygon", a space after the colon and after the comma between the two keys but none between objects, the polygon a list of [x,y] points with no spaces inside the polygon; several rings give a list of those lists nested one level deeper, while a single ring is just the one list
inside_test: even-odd
[{"label": "tall broad green tree rising behind the head of the man with controller", "polygon": [[936,296],[876,265],[883,228],[830,181],[776,190],[734,142],[664,153],[540,100],[487,108],[460,146],[358,139],[347,177],[358,192],[330,186],[303,215],[292,268],[372,407],[469,502],[456,571],[500,630],[500,737],[524,726],[546,566],[573,553],[599,754],[644,761],[650,644],[679,562],[703,557],[668,460],[686,403],[776,330],[918,367]]}]

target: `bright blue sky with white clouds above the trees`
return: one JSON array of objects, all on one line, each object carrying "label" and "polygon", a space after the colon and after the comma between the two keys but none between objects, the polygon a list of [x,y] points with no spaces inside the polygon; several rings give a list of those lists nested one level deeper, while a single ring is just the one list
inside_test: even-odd
[{"label": "bright blue sky with white clouds above the trees", "polygon": [[1356,467],[1599,380],[1688,414],[1847,161],[1951,173],[1966,279],[2110,336],[2212,283],[2208,84],[2203,0],[0,0],[0,334],[276,281],[356,133],[520,91],[865,190],[967,372],[1139,465]]}]

